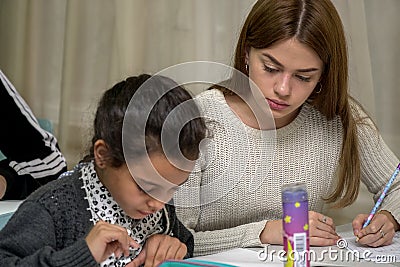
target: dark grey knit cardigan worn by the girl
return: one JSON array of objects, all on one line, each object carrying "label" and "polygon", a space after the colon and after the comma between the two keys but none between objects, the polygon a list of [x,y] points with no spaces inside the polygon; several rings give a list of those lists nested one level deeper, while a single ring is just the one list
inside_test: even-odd
[{"label": "dark grey knit cardigan worn by the girl", "polygon": [[[85,237],[93,227],[79,164],[32,193],[0,231],[0,266],[98,266]],[[193,252],[193,236],[166,205],[165,229]],[[168,218],[167,218],[168,217]],[[169,227],[170,228],[169,228]]]}]

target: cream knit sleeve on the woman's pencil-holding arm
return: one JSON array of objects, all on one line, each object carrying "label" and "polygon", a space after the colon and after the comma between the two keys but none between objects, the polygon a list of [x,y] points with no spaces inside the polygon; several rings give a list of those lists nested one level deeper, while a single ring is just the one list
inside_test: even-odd
[{"label": "cream knit sleeve on the woman's pencil-holding arm", "polygon": [[[387,146],[372,120],[361,109],[358,108],[357,111],[363,118],[357,127],[361,179],[368,190],[374,194],[376,201],[399,164],[399,159]],[[399,203],[400,179],[397,178],[386,194],[380,209],[389,211],[398,223],[400,223]]]}]

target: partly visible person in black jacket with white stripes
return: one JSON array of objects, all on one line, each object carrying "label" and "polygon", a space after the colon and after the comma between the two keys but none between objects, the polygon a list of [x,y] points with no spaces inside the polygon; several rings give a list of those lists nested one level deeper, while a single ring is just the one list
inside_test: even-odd
[{"label": "partly visible person in black jacket with white stripes", "polygon": [[24,199],[67,170],[57,139],[42,129],[18,91],[0,71],[0,199]]}]

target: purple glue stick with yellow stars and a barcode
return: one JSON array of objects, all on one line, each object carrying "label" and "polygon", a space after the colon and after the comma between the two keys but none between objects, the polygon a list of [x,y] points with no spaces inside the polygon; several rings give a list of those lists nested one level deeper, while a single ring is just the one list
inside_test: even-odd
[{"label": "purple glue stick with yellow stars and a barcode", "polygon": [[285,267],[309,267],[308,195],[305,183],[282,187]]}]

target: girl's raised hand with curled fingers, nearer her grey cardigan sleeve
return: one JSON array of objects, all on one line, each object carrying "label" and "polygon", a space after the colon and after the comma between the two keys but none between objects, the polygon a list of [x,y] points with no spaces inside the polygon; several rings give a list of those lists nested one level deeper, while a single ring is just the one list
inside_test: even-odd
[{"label": "girl's raised hand with curled fingers, nearer her grey cardigan sleeve", "polygon": [[85,240],[97,263],[106,260],[112,253],[116,258],[122,254],[127,257],[129,247],[139,248],[125,228],[104,221],[97,222]]}]

